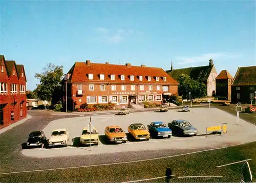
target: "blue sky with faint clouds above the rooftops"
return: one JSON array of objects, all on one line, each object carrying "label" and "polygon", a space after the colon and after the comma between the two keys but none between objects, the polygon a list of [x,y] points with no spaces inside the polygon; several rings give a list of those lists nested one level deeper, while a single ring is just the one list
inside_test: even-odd
[{"label": "blue sky with faint clouds above the rooftops", "polygon": [[27,89],[47,63],[174,68],[207,65],[234,76],[256,65],[254,1],[1,1],[0,54],[24,64]]}]

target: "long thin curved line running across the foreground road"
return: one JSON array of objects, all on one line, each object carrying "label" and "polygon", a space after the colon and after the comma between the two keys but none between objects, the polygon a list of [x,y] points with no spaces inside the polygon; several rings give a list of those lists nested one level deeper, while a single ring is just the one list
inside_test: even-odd
[{"label": "long thin curved line running across the foreground road", "polygon": [[[256,142],[256,141],[250,141],[250,142]],[[188,152],[188,153],[184,153],[184,154],[176,154],[176,155],[172,155],[172,156],[155,157],[155,158],[151,158],[151,159],[140,159],[140,160],[137,160],[137,161],[130,161],[130,162],[118,162],[118,163],[109,163],[109,164],[85,165],[85,166],[79,166],[79,167],[63,167],[63,168],[41,169],[41,170],[27,170],[27,171],[0,173],[0,175],[15,174],[15,173],[28,173],[28,172],[42,172],[42,171],[51,171],[51,170],[87,168],[87,167],[100,167],[100,166],[110,166],[110,165],[121,165],[121,164],[129,164],[129,163],[146,162],[146,161],[153,161],[153,160],[156,160],[156,159],[165,159],[165,158],[171,158],[171,157],[185,156],[185,155],[189,155],[189,154],[196,154],[196,153],[200,153],[200,152],[207,152],[207,151],[213,151],[213,150],[218,150],[218,149],[225,149],[225,148],[228,148],[228,147],[239,146],[239,145],[243,145],[243,144],[246,144],[246,143],[240,143],[240,144],[236,144],[236,145],[230,145],[230,146],[219,147],[219,148],[214,148],[214,149],[206,149],[206,150],[195,151],[195,152]]]}]

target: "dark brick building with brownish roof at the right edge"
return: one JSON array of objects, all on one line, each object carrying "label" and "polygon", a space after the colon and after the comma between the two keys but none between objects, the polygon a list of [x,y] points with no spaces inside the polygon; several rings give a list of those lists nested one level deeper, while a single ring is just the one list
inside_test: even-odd
[{"label": "dark brick building with brownish roof at the right edge", "polygon": [[231,102],[251,103],[256,97],[256,66],[238,67],[231,84]]}]

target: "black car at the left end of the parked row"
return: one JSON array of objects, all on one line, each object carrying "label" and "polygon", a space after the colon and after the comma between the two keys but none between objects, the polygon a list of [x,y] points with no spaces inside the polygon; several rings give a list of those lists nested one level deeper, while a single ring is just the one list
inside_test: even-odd
[{"label": "black car at the left end of the parked row", "polygon": [[29,133],[29,138],[27,141],[27,147],[42,147],[46,143],[46,135],[44,131],[32,131]]}]

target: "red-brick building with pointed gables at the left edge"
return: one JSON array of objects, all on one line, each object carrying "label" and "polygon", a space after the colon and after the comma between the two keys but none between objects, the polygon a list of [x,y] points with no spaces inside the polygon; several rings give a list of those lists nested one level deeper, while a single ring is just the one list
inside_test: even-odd
[{"label": "red-brick building with pointed gables at the left edge", "polygon": [[23,65],[0,55],[0,128],[27,116],[26,75]]}]

